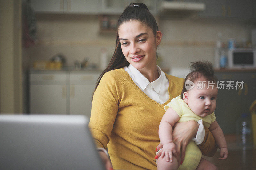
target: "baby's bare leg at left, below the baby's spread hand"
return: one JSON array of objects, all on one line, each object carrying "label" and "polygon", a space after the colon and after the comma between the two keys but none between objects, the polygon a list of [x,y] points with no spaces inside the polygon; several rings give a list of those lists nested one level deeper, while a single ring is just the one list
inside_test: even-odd
[{"label": "baby's bare leg at left, below the baby's spread hand", "polygon": [[157,170],[176,170],[180,165],[175,156],[172,156],[172,162],[167,162],[165,155],[164,158],[159,157],[156,160]]}]

